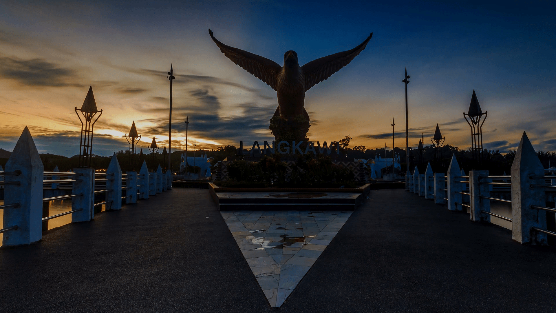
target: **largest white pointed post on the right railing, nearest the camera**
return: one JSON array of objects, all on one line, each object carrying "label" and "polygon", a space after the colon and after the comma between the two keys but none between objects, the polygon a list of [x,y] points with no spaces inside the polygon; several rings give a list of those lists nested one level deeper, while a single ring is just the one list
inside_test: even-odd
[{"label": "largest white pointed post on the right railing, nearest the camera", "polygon": [[512,164],[512,237],[530,244],[547,244],[547,235],[532,228],[547,229],[545,211],[532,206],[545,207],[544,167],[527,138],[525,131]]}]

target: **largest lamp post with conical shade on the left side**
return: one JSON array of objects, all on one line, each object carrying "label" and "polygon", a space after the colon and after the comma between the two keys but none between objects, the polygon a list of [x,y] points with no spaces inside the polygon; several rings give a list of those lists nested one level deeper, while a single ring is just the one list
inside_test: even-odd
[{"label": "largest lamp post with conical shade on the left side", "polygon": [[[83,116],[79,116],[79,113]],[[97,118],[93,121],[96,114],[100,113]],[[91,153],[93,149],[93,129],[95,128],[95,123],[97,123],[98,118],[102,115],[102,110],[97,110],[97,103],[95,102],[95,95],[93,95],[93,86],[89,87],[85,101],[81,109],[75,107],[75,114],[81,121],[81,139],[79,143],[79,167],[87,168],[91,167]],[[83,122],[85,120],[85,122]]]}]

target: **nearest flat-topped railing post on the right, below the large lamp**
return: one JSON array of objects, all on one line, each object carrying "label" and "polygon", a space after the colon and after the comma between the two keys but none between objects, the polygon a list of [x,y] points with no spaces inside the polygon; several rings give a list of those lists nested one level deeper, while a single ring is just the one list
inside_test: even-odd
[{"label": "nearest flat-topped railing post on the right, below the large lamp", "polygon": [[488,182],[488,170],[469,171],[469,219],[473,222],[490,222],[490,200],[482,197],[490,197],[490,185]]}]

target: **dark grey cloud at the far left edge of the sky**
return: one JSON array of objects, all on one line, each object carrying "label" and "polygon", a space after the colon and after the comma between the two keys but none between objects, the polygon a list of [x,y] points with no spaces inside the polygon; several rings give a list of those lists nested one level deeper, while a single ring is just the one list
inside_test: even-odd
[{"label": "dark grey cloud at the far left edge of the sky", "polygon": [[81,86],[72,81],[76,74],[72,69],[59,67],[42,58],[21,60],[19,58],[0,58],[0,74],[28,86]]}]

